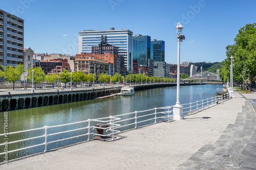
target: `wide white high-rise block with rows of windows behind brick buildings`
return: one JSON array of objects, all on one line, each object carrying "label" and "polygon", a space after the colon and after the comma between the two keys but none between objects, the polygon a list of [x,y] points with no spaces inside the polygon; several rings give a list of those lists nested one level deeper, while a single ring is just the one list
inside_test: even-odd
[{"label": "wide white high-rise block with rows of windows behind brick buildings", "polygon": [[119,47],[118,55],[124,57],[124,66],[127,68],[127,71],[133,70],[132,35],[133,32],[130,30],[115,30],[115,28],[102,31],[80,31],[78,36],[78,54],[92,53],[92,46],[98,46],[101,37],[106,36],[108,44]]}]

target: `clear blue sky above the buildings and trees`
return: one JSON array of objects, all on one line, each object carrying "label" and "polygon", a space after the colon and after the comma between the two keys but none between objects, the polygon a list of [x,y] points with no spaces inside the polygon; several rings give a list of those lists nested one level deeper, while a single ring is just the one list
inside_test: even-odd
[{"label": "clear blue sky above the buildings and trees", "polygon": [[25,20],[24,47],[36,53],[77,54],[83,30],[129,29],[165,41],[165,61],[177,63],[176,25],[184,27],[181,61],[221,62],[238,30],[256,22],[256,1],[238,0],[0,0]]}]

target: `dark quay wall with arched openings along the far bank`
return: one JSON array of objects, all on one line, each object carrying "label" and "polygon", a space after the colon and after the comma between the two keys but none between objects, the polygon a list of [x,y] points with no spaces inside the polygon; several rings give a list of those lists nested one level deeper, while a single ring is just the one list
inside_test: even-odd
[{"label": "dark quay wall with arched openings along the far bank", "polygon": [[[180,86],[203,85],[205,83],[181,83]],[[158,87],[177,86],[176,84],[147,84],[134,86],[135,91]],[[0,95],[0,111],[17,110],[32,107],[56,105],[62,103],[92,100],[121,92],[121,87],[109,87],[100,89],[54,91],[37,93],[20,93]]]}]

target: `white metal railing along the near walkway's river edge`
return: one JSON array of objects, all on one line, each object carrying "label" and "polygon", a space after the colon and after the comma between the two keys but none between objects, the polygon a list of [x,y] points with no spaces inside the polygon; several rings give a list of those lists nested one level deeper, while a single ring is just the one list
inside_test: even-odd
[{"label": "white metal railing along the near walkway's river edge", "polygon": [[[196,101],[193,103],[188,103],[188,104],[182,104],[183,106],[183,115],[188,115],[192,113],[196,113],[200,110],[207,109],[209,107],[215,106],[218,103],[222,103],[226,100],[231,99],[229,93],[215,96],[209,99],[204,99],[201,101]],[[135,111],[131,113],[125,113],[125,114],[120,114],[120,115],[115,115],[115,116],[109,116],[109,117],[103,117],[103,118],[97,118],[97,119],[88,119],[88,120],[83,120],[80,122],[75,122],[75,123],[70,123],[70,124],[63,124],[63,125],[56,125],[56,126],[45,126],[42,128],[36,128],[36,129],[30,129],[30,130],[24,130],[24,131],[18,131],[18,132],[11,132],[8,133],[9,135],[12,134],[18,134],[18,133],[27,133],[27,132],[32,132],[32,131],[38,131],[38,130],[45,130],[44,134],[41,134],[39,136],[33,136],[30,138],[26,139],[21,139],[21,140],[16,140],[16,141],[10,141],[7,143],[1,143],[1,145],[6,145],[6,144],[12,144],[12,143],[18,143],[18,142],[23,142],[23,141],[28,141],[28,140],[33,140],[33,139],[38,139],[38,138],[44,138],[44,142],[41,142],[39,144],[34,144],[34,145],[29,145],[25,146],[24,148],[18,148],[12,151],[8,152],[3,152],[0,153],[0,155],[3,155],[5,153],[12,153],[20,150],[26,150],[29,148],[34,148],[38,147],[41,145],[45,145],[45,152],[47,151],[47,145],[50,143],[55,143],[59,141],[64,141],[72,138],[78,138],[82,136],[87,136],[87,140],[91,139],[91,136],[93,135],[99,135],[99,136],[110,136],[112,137],[112,140],[114,140],[114,135],[117,133],[120,133],[121,131],[124,130],[129,130],[129,129],[136,129],[140,126],[144,125],[150,125],[150,124],[156,124],[159,120],[164,120],[168,121],[170,119],[173,119],[173,106],[167,106],[167,107],[160,107],[160,108],[154,108],[154,109],[148,109],[148,110],[143,110],[143,111]],[[97,123],[101,124],[106,124],[109,125],[108,128],[100,128],[96,127]],[[87,124],[87,125],[84,125]],[[71,129],[67,130],[69,126],[71,125],[79,125],[80,127],[76,129]],[[61,129],[54,131],[54,128],[59,128]],[[101,134],[96,134],[95,133],[95,128],[98,129],[103,129],[106,131],[105,135]],[[52,133],[49,133],[49,129],[53,129]],[[70,128],[69,128],[70,129]],[[117,130],[119,129],[119,130]],[[83,132],[82,130],[87,130],[86,132]],[[74,132],[80,131],[77,135],[73,134]],[[68,134],[72,132],[72,134]],[[54,135],[59,135],[59,134],[67,134],[65,138],[58,138],[58,139],[53,139],[53,140],[48,140],[48,136],[54,136]],[[5,136],[6,134],[0,134],[0,136]],[[11,139],[11,138],[10,138]]]}]

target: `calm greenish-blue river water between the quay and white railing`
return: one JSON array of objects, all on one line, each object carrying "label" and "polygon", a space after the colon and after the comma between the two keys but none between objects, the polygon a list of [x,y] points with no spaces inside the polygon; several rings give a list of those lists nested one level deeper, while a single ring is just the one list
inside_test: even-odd
[{"label": "calm greenish-blue river water between the quay and white railing", "polygon": [[[194,85],[180,87],[180,103],[190,103],[214,97],[216,89],[222,88],[222,85]],[[65,103],[59,105],[51,105],[44,107],[36,107],[22,110],[8,111],[8,132],[22,131],[44,126],[54,126],[68,124],[87,119],[100,117],[108,117],[111,115],[119,115],[134,111],[159,108],[164,106],[173,106],[176,104],[176,87],[155,88],[135,92],[133,96],[113,96],[111,98]],[[4,112],[0,112],[0,123],[4,125]],[[79,125],[82,127],[82,125]],[[75,127],[75,128],[79,128]],[[74,127],[70,127],[74,128]],[[4,126],[3,126],[4,129]],[[65,129],[69,130],[69,129]],[[54,131],[53,131],[54,132]],[[51,133],[53,133],[51,132]],[[83,133],[87,133],[84,131]],[[23,138],[44,135],[44,130],[13,134],[9,135],[9,142],[20,140]],[[74,133],[73,133],[74,135]],[[59,135],[60,137],[61,135]],[[51,140],[52,136],[48,139]],[[63,137],[63,136],[62,136]],[[4,136],[1,136],[0,142],[4,142]],[[53,140],[56,138],[52,138]],[[86,140],[87,137],[79,137],[64,142],[56,142],[48,144],[47,149],[63,147],[64,145],[72,144]],[[8,150],[27,147],[32,144],[44,142],[44,138],[34,139],[31,141],[23,141],[20,143],[9,144]],[[8,160],[30,155],[33,153],[43,152],[44,146],[31,148],[23,151],[10,153]],[[4,146],[0,147],[0,153],[4,152]],[[0,162],[3,161],[3,156],[0,155]]]}]

